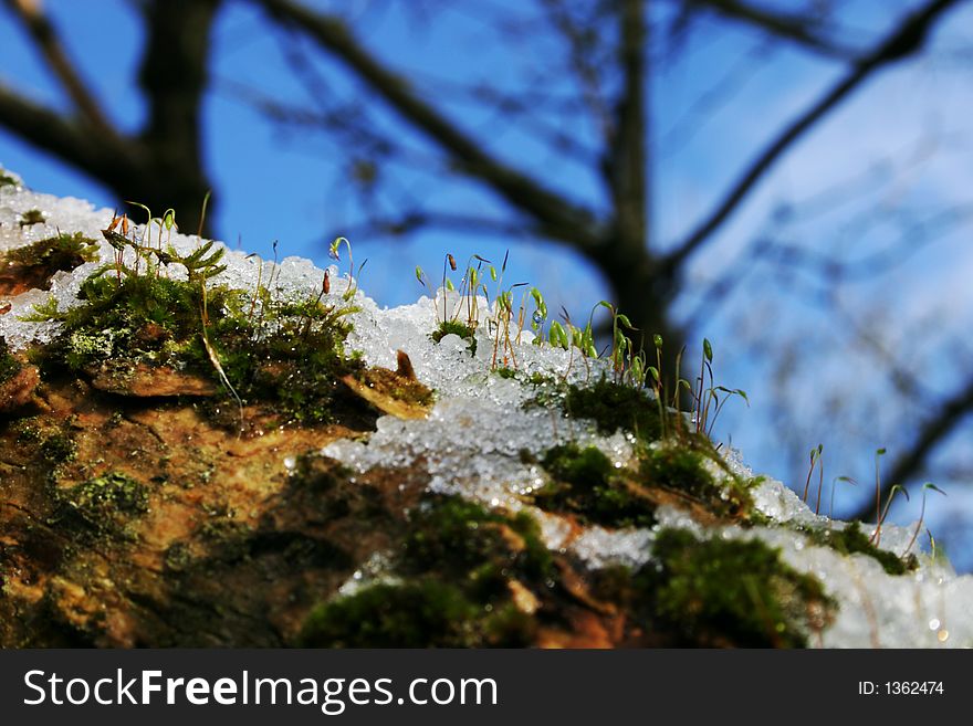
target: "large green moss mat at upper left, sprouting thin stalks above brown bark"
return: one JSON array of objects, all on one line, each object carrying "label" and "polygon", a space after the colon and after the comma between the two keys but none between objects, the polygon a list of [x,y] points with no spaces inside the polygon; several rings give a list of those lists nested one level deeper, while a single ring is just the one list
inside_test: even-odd
[{"label": "large green moss mat at upper left, sprouting thin stalks above brown bark", "polygon": [[[91,372],[105,362],[169,366],[221,382],[203,340],[199,284],[157,275],[92,276],[81,287],[84,305],[38,311],[34,319],[64,323],[48,348],[46,366]],[[346,357],[349,308],[311,296],[274,301],[213,285],[206,291],[207,338],[244,404],[255,403],[289,421],[333,420],[342,376],[363,366]],[[237,420],[236,401],[221,393],[206,406],[216,421]]]}]

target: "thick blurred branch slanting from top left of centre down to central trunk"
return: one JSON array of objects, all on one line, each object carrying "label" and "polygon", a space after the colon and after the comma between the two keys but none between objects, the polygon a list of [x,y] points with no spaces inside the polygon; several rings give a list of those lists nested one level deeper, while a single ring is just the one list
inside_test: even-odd
[{"label": "thick blurred branch slanting from top left of centre down to central trunk", "polygon": [[600,243],[590,211],[489,155],[481,144],[421,99],[401,76],[358,43],[339,19],[290,0],[257,1],[280,23],[301,30],[341,59],[397,113],[446,151],[453,166],[485,182],[511,207],[536,220],[544,234],[587,251]]}]

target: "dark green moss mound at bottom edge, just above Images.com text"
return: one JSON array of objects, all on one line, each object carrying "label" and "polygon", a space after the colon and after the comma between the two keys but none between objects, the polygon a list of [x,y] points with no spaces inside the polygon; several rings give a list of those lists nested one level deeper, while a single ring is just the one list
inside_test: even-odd
[{"label": "dark green moss mound at bottom edge, just above Images.com text", "polygon": [[533,639],[531,619],[503,607],[488,611],[449,583],[380,583],[318,606],[301,632],[304,646],[519,648]]}]

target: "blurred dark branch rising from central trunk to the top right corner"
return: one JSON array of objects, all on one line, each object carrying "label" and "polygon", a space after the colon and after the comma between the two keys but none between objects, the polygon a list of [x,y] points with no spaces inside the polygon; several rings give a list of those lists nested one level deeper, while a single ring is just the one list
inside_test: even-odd
[{"label": "blurred dark branch rising from central trunk to the top right corner", "polygon": [[751,162],[716,208],[666,256],[666,266],[679,269],[689,255],[708,242],[784,152],[828,112],[881,69],[919,52],[937,19],[958,2],[962,0],[931,0],[907,17],[871,53],[858,61],[843,81],[798,116]]}]

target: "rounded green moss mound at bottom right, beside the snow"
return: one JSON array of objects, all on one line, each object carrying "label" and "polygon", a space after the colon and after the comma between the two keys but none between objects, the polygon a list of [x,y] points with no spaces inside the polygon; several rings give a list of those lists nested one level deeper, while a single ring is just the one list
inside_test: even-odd
[{"label": "rounded green moss mound at bottom right, beside the snow", "polygon": [[670,528],[658,533],[652,554],[635,572],[601,574],[599,587],[660,644],[802,648],[836,608],[816,578],[756,539],[699,539]]}]

